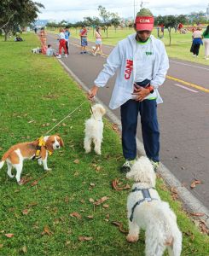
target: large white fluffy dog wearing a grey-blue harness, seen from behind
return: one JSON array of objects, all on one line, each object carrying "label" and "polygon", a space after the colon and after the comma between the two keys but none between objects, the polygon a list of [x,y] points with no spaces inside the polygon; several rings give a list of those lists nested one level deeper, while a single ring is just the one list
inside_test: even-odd
[{"label": "large white fluffy dog wearing a grey-blue harness, seen from behind", "polygon": [[182,233],[177,227],[177,217],[168,203],[160,200],[154,189],[156,174],[151,162],[142,156],[136,160],[126,177],[136,182],[127,201],[127,241],[137,241],[142,228],[146,230],[146,256],[161,256],[166,248],[170,256],[181,255]]}]

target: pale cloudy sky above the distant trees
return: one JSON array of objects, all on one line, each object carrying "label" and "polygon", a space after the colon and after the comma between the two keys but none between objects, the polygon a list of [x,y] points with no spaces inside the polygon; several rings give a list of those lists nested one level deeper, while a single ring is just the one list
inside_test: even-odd
[{"label": "pale cloudy sky above the distant trees", "polygon": [[[98,6],[102,5],[108,12],[118,13],[121,18],[133,17],[140,9],[141,1],[136,0],[36,0],[43,3],[38,15],[40,20],[67,20],[76,22],[84,17],[99,17]],[[191,12],[206,12],[209,0],[148,0],[143,7],[152,11],[153,15],[187,15]],[[135,6],[135,8],[134,8]]]}]

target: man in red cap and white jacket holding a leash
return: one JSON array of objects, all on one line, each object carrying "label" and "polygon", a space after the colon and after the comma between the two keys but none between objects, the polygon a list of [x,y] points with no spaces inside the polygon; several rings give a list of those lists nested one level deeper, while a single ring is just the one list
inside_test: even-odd
[{"label": "man in red cap and white jacket holding a leash", "polygon": [[149,9],[141,9],[137,13],[134,27],[136,33],[120,41],[108,56],[89,92],[89,99],[96,96],[98,88],[105,86],[119,69],[109,107],[120,107],[125,157],[121,172],[129,172],[136,159],[138,113],[141,115],[145,152],[156,171],[160,162],[156,103],[162,102],[158,87],[165,81],[169,62],[164,44],[151,35],[154,16]]}]

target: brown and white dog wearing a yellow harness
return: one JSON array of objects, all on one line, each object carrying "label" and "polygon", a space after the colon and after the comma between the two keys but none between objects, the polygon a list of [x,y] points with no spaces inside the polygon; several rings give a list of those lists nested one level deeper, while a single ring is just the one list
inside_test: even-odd
[{"label": "brown and white dog wearing a yellow harness", "polygon": [[[4,162],[7,162],[9,177],[16,177],[19,184],[20,174],[22,172],[23,161],[38,159],[38,164],[44,166],[45,171],[50,169],[47,166],[47,157],[52,154],[55,149],[64,146],[63,140],[58,135],[45,136],[30,143],[18,143],[3,154],[0,161],[0,169],[3,167]],[[39,151],[38,151],[39,150]],[[37,152],[39,154],[37,154]],[[16,176],[12,175],[12,167],[16,169]]]}]

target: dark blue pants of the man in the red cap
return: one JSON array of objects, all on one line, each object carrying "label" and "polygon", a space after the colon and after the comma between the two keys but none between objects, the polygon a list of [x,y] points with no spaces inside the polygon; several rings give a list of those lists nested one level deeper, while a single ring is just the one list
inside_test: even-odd
[{"label": "dark blue pants of the man in the red cap", "polygon": [[125,159],[136,158],[136,128],[138,113],[141,115],[142,138],[149,159],[159,161],[160,131],[156,100],[136,102],[129,100],[120,107],[122,147]]}]

